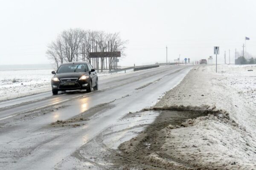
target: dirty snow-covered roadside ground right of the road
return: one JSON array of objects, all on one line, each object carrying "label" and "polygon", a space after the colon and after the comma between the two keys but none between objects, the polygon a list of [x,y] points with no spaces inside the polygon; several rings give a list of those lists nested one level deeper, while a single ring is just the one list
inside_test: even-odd
[{"label": "dirty snow-covered roadside ground right of the road", "polygon": [[169,137],[160,155],[201,169],[256,168],[256,65],[250,66],[253,71],[247,66],[218,65],[218,73],[215,66],[197,66],[163,96],[156,108],[201,107],[228,118],[209,114],[186,127],[166,127]]}]

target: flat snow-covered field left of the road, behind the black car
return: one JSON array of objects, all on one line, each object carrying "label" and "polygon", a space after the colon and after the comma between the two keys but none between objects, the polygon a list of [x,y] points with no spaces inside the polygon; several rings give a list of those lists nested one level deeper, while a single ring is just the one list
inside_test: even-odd
[{"label": "flat snow-covered field left of the road, behind the black car", "polygon": [[[0,70],[0,101],[51,91],[53,69]],[[140,71],[137,71],[140,72]],[[109,74],[99,71],[99,80],[132,74],[133,70]]]}]

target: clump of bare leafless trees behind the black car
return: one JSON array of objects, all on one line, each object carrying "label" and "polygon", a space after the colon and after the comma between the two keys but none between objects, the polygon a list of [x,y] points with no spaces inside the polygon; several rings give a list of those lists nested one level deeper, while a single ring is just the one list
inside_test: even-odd
[{"label": "clump of bare leafless trees behind the black car", "polygon": [[[96,47],[93,45],[95,42],[97,42]],[[62,31],[56,40],[47,45],[46,54],[58,68],[63,62],[91,62],[89,58],[89,52],[91,51],[121,51],[121,56],[123,57],[125,56],[124,51],[127,43],[128,40],[122,40],[119,33],[106,33],[104,31],[90,31],[75,28]],[[104,64],[104,61],[101,63]],[[110,59],[109,64],[113,64],[113,59]]]}]

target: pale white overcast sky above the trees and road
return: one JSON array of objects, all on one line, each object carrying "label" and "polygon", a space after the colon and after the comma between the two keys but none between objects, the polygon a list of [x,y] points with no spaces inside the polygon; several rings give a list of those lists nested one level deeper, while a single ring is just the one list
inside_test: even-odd
[{"label": "pale white overcast sky above the trees and road", "polygon": [[120,32],[120,65],[192,61],[230,49],[256,55],[256,0],[0,0],[0,65],[49,63],[46,46],[68,28]]}]

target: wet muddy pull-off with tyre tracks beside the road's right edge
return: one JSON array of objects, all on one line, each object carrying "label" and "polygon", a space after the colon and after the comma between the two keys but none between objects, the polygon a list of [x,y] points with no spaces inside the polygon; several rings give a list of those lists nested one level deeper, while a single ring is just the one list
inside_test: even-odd
[{"label": "wet muddy pull-off with tyre tracks beside the road's right edge", "polygon": [[143,169],[153,168],[145,164],[145,154],[160,149],[163,142],[157,140],[160,130],[171,125],[181,125],[186,119],[207,116],[207,113],[188,111],[142,111],[128,113],[117,124],[108,127],[91,141],[61,162],[58,168],[70,164],[79,169]]}]

